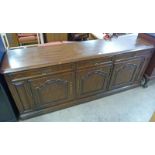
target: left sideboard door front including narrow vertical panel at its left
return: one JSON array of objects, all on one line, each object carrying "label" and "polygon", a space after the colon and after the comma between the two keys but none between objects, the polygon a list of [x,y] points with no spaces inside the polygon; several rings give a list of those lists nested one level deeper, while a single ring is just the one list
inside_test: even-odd
[{"label": "left sideboard door front including narrow vertical panel at its left", "polygon": [[49,107],[74,97],[74,73],[67,72],[13,82],[20,113]]}]

